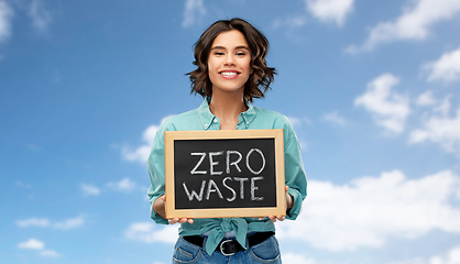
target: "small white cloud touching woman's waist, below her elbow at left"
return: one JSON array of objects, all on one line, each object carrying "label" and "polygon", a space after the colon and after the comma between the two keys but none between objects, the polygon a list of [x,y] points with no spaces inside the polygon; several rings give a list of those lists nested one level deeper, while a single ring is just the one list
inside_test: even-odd
[{"label": "small white cloud touching woman's waist, below her elbow at left", "polygon": [[175,243],[178,233],[178,226],[160,226],[152,222],[136,222],[124,231],[124,235],[130,240],[142,241],[145,243],[163,242]]}]

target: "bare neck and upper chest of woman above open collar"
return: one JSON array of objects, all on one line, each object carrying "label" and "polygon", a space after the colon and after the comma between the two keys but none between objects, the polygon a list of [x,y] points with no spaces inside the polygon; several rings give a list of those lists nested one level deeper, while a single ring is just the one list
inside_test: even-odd
[{"label": "bare neck and upper chest of woman above open collar", "polygon": [[212,91],[209,109],[219,118],[221,130],[236,130],[238,116],[247,111],[248,107],[242,92]]}]

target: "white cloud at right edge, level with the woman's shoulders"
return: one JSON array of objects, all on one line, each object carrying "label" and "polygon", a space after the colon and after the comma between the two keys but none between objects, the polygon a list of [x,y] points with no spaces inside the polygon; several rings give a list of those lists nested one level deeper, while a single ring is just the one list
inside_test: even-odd
[{"label": "white cloud at right edge, level with the woman's shoulders", "polygon": [[450,102],[447,97],[436,107],[432,113],[423,122],[423,128],[410,132],[409,143],[431,141],[438,143],[443,150],[460,155],[460,108],[450,117]]}]

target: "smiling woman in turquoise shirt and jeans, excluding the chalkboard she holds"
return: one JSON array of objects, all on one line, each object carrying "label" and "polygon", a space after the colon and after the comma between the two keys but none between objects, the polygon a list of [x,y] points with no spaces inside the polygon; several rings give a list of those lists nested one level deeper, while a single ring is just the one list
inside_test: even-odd
[{"label": "smiling woman in turquoise shirt and jeans, excluding the chalkboard she holds", "polygon": [[266,66],[267,51],[266,37],[241,19],[217,21],[195,45],[197,69],[188,75],[191,92],[205,100],[161,125],[147,161],[152,219],[180,223],[173,263],[281,263],[274,222],[283,221],[282,216],[165,219],[165,131],[256,129],[284,131],[286,218],[297,218],[307,183],[295,132],[284,116],[251,105],[273,81],[275,69]]}]

